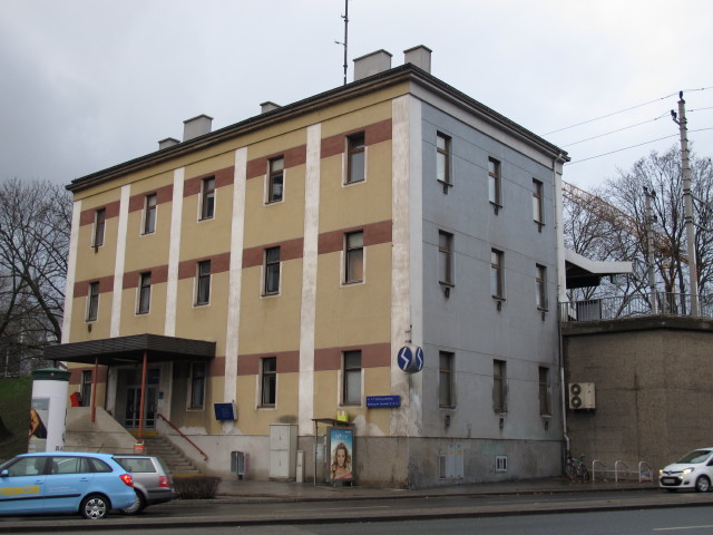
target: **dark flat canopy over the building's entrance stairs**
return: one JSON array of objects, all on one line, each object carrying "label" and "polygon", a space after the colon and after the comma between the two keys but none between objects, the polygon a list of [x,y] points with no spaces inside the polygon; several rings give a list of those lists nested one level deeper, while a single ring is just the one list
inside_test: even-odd
[{"label": "dark flat canopy over the building's entrance stairs", "polygon": [[45,348],[46,360],[102,366],[140,363],[144,358],[148,362],[162,362],[167,360],[208,360],[214,357],[215,342],[158,334],[106,338]]}]

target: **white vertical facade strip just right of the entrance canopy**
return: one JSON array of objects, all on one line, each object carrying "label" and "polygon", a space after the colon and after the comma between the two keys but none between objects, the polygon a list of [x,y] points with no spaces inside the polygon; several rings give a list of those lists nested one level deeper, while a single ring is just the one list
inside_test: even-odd
[{"label": "white vertical facade strip just right of the entrance canopy", "polygon": [[[240,349],[241,292],[243,281],[243,240],[245,231],[245,188],[247,147],[235,150],[233,175],[233,220],[231,222],[231,266],[227,292],[227,330],[225,337],[225,387],[223,400],[237,400],[237,352]],[[227,424],[226,424],[227,425]]]}]

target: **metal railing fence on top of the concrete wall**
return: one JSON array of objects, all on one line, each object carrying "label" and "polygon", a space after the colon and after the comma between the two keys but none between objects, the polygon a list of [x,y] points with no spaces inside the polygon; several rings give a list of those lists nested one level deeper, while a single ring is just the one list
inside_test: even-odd
[{"label": "metal railing fence on top of the concrete wall", "polygon": [[[596,298],[559,303],[561,321],[597,321],[646,315],[692,315],[691,294],[658,292],[652,295]],[[697,295],[697,318],[713,318],[713,295]]]}]

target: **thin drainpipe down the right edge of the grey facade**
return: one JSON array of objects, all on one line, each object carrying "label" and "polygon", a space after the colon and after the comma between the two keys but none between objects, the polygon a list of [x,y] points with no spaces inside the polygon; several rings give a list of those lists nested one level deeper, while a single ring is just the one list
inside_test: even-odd
[{"label": "thin drainpipe down the right edge of the grey facade", "polygon": [[563,227],[563,196],[561,196],[561,174],[557,173],[557,164],[564,163],[565,158],[561,153],[553,158],[553,187],[555,198],[555,251],[557,252],[557,349],[559,366],[559,390],[561,405],[561,435],[564,439],[565,450],[564,459],[569,451],[569,436],[567,435],[567,389],[565,386],[565,362],[561,338],[561,303],[567,301],[567,278],[565,266],[565,231]]}]

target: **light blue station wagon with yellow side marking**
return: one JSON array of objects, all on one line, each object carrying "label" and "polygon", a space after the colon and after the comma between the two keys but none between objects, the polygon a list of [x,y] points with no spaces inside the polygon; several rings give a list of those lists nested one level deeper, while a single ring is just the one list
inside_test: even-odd
[{"label": "light blue station wagon with yellow side marking", "polygon": [[109,454],[23,454],[0,465],[0,515],[79,513],[96,519],[135,500],[134,478]]}]

